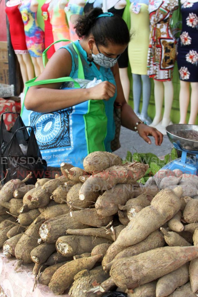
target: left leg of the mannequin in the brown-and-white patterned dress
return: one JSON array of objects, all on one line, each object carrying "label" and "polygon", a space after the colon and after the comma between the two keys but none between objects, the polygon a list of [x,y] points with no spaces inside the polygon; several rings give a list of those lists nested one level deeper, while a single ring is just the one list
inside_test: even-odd
[{"label": "left leg of the mannequin in the brown-and-white patterned dress", "polygon": [[162,81],[154,80],[155,117],[151,126],[156,126],[161,121],[161,110],[164,99],[164,84]]}]

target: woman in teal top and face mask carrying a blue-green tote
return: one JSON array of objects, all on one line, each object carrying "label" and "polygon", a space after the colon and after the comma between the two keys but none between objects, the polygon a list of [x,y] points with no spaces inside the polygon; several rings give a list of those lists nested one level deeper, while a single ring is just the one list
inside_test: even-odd
[{"label": "woman in teal top and face mask carrying a blue-green tote", "polygon": [[[90,88],[68,89],[62,82],[29,88],[25,107],[32,110],[30,124],[38,143],[42,134],[43,147],[39,143],[42,156],[45,158],[45,152],[52,148],[51,159],[47,160],[51,166],[60,166],[58,162],[65,161],[82,167],[83,158],[88,153],[111,151],[111,142],[115,138],[115,104],[121,107],[123,127],[137,131],[149,144],[148,136],[153,136],[155,144],[161,145],[162,134],[143,124],[124,98],[117,63],[130,40],[124,20],[95,8],[78,20],[75,29],[80,40],[60,48],[37,81],[65,77],[76,80],[81,65],[85,80],[102,82]],[[50,118],[52,113],[53,119]],[[52,128],[58,121],[64,122],[62,132],[59,126]],[[57,133],[59,140],[56,140]],[[56,153],[53,153],[51,143],[56,143]],[[60,160],[57,160],[59,155]],[[55,158],[56,162],[51,162]]]}]

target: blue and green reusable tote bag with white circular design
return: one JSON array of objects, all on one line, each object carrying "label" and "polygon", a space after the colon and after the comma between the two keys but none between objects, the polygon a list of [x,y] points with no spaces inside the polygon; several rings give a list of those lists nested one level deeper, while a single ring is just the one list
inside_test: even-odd
[{"label": "blue and green reusable tote bag with white circular design", "polygon": [[[78,78],[84,79],[80,54],[74,43],[73,47],[78,55]],[[43,61],[49,48],[43,52]],[[80,88],[71,77],[35,80],[36,78],[26,83],[26,92],[31,86],[68,81],[72,81],[75,88]],[[26,110],[23,103],[21,117],[26,126],[33,127],[42,158],[47,161],[48,166],[59,167],[61,162],[67,162],[83,168],[83,159],[90,152],[105,151],[101,139],[106,136],[107,116],[102,100],[87,100],[50,113]]]}]

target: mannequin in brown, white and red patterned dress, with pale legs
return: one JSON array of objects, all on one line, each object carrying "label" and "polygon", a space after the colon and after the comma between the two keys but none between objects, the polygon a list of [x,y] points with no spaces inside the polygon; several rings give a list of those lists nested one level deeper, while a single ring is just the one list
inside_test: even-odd
[{"label": "mannequin in brown, white and red patterned dress, with pale legs", "polygon": [[[170,30],[173,10],[178,8],[178,0],[149,0],[151,32],[148,50],[148,75],[154,79],[156,115],[151,126],[166,134],[165,127],[172,124],[170,111],[173,101],[172,72],[175,64],[175,38]],[[164,114],[161,117],[164,99]],[[162,121],[161,121],[162,119]]]}]

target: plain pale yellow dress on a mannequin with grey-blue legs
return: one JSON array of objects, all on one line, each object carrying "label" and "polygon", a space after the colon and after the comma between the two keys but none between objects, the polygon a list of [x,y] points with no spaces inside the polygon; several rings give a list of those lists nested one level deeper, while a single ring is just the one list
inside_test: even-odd
[{"label": "plain pale yellow dress on a mannequin with grey-blue legs", "polygon": [[131,41],[129,42],[129,63],[134,74],[147,75],[147,55],[149,46],[148,5],[137,3],[130,5]]}]

